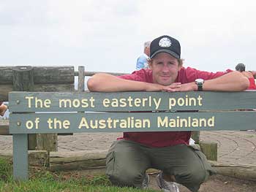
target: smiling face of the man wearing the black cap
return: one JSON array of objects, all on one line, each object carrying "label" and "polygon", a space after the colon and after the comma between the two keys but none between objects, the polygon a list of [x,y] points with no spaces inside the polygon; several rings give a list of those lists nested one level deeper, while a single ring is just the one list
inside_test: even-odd
[{"label": "smiling face of the man wearing the black cap", "polygon": [[168,53],[158,53],[149,65],[152,70],[153,82],[160,85],[170,85],[175,82],[178,71],[182,66],[178,66],[177,58]]}]

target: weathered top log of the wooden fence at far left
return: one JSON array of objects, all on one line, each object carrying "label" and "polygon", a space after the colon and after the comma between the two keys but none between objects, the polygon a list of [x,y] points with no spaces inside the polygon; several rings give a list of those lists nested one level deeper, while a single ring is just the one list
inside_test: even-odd
[{"label": "weathered top log of the wooden fence at far left", "polygon": [[[15,66],[0,66],[0,84],[12,85],[12,69]],[[74,66],[33,66],[34,84],[74,83]]]}]

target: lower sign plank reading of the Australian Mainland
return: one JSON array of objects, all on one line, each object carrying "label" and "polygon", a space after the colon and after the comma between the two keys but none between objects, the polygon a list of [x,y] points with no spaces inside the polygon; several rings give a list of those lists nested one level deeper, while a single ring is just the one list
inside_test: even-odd
[{"label": "lower sign plank reading of the Australian Mainland", "polygon": [[11,114],[11,134],[254,129],[256,112]]}]

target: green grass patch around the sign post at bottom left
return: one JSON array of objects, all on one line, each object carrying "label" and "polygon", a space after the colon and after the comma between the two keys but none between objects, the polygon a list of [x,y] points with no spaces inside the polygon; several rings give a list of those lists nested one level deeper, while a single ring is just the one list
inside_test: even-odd
[{"label": "green grass patch around the sign post at bottom left", "polygon": [[[49,172],[46,169],[33,167],[30,179],[17,182],[12,178],[12,164],[0,158],[0,191],[3,192],[145,192],[135,188],[118,188],[110,184],[105,175],[82,176],[78,173]],[[149,192],[150,190],[148,190]],[[153,192],[153,191],[151,191]]]}]

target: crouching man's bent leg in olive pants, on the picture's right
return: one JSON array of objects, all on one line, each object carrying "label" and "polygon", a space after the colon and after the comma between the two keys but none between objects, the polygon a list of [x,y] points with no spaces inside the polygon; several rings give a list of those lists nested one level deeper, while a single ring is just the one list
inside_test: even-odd
[{"label": "crouching man's bent leg in olive pants, on the picture's right", "polygon": [[163,171],[166,180],[170,175],[174,175],[174,181],[186,186],[190,191],[198,191],[200,184],[207,180],[210,174],[215,173],[206,156],[193,147],[176,145],[154,150],[154,167]]}]

